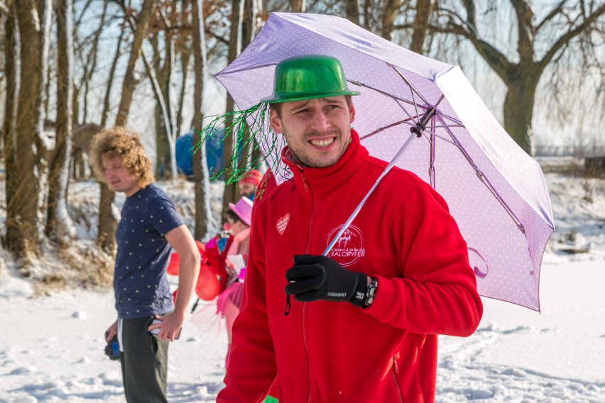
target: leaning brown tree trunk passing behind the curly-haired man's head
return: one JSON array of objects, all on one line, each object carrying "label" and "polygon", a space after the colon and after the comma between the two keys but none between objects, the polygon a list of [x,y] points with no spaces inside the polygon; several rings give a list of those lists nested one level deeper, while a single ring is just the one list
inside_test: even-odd
[{"label": "leaning brown tree trunk passing behind the curly-haired man's head", "polygon": [[[141,13],[139,13],[136,20],[136,30],[134,31],[131,54],[126,67],[124,82],[122,83],[122,96],[116,116],[115,126],[126,126],[126,123],[128,123],[128,114],[132,102],[132,95],[134,92],[134,87],[136,86],[136,80],[134,79],[136,62],[141,56],[143,39],[147,34],[149,20],[151,18],[151,13],[155,3],[155,0],[145,0],[143,2],[143,7],[141,8]],[[107,184],[102,183],[101,201],[99,203],[99,233],[97,236],[97,241],[102,246],[103,250],[111,254],[114,253],[116,248],[116,227],[118,223],[117,217],[115,214],[112,214],[114,196],[115,193],[111,191],[109,187],[107,187]]]}]

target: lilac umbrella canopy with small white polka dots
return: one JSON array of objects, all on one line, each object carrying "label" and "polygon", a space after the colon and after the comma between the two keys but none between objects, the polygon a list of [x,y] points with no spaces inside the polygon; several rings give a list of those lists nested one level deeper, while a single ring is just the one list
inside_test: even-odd
[{"label": "lilac umbrella canopy with small white polka dots", "polygon": [[[273,89],[278,62],[331,55],[354,97],[354,127],[371,155],[391,161],[427,111],[420,138],[396,161],[446,199],[468,243],[479,294],[540,310],[540,264],[554,231],[540,166],[504,131],[462,70],[418,55],[335,16],[271,13],[261,32],[216,77],[240,109]],[[426,115],[425,115],[426,114]],[[254,120],[254,118],[251,118]],[[275,145],[258,134],[276,172]]]}]

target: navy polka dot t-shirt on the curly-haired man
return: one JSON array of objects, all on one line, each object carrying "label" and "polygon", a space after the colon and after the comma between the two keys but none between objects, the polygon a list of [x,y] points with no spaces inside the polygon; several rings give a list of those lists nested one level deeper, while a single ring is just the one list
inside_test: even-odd
[{"label": "navy polka dot t-shirt on the curly-haired man", "polygon": [[180,225],[173,201],[156,184],[126,198],[116,229],[114,272],[116,310],[121,319],[174,310],[166,277],[171,248],[164,234]]}]

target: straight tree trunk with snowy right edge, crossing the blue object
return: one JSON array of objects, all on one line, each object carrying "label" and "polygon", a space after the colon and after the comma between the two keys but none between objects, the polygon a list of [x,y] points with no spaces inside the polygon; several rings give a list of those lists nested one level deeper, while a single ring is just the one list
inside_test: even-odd
[{"label": "straight tree trunk with snowy right edge, crossing the blue object", "polygon": [[[206,38],[202,0],[192,0],[193,14],[193,62],[195,84],[193,89],[193,144],[200,142],[206,68]],[[202,239],[208,233],[210,219],[209,172],[204,158],[206,145],[202,144],[197,153],[193,153],[193,184],[195,186],[195,239]]]}]

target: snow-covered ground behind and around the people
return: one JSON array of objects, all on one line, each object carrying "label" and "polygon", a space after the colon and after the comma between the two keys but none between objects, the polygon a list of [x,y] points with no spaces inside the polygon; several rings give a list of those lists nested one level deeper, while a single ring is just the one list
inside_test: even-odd
[{"label": "snow-covered ground behind and around the people", "polygon": [[[542,313],[484,299],[473,336],[441,338],[438,402],[605,402],[605,181],[554,173],[547,181],[557,233],[540,276]],[[190,184],[160,185],[191,219]],[[70,192],[80,238],[91,240],[98,186],[78,182]],[[0,249],[0,402],[124,402],[119,363],[103,353],[111,291],[35,291]],[[170,402],[213,402],[226,348],[225,333],[188,321],[170,346]]]}]

